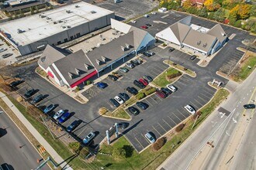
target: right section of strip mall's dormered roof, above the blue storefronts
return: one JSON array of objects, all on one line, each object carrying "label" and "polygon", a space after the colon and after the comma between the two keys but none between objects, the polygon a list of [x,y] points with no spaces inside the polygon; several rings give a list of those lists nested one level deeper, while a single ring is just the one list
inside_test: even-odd
[{"label": "right section of strip mall's dormered roof, above the blue storefronts", "polygon": [[[99,46],[98,48],[95,48],[92,51],[86,53],[86,56],[88,56],[88,59],[91,60],[96,70],[101,70],[103,67],[106,67],[110,63],[113,63],[115,60],[119,59],[120,56],[123,56],[126,53],[130,53],[134,50],[135,35],[140,37],[139,35],[134,34],[133,31],[128,32],[126,35],[119,36],[118,39],[113,39],[111,42]],[[130,45],[129,49],[126,48],[126,44]],[[125,51],[123,51],[122,46],[125,47]],[[102,59],[102,56],[106,58],[106,61]]]}]

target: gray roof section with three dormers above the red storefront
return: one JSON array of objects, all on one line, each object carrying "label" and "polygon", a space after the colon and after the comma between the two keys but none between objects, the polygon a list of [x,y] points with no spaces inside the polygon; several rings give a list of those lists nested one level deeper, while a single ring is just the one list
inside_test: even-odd
[{"label": "gray roof section with three dormers above the red storefront", "polygon": [[82,49],[55,61],[54,64],[70,85],[95,71]]}]

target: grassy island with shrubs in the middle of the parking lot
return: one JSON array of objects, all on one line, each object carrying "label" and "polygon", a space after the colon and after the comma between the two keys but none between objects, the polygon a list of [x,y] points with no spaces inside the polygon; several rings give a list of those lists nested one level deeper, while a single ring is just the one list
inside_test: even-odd
[{"label": "grassy island with shrubs in the middle of the parking lot", "polygon": [[178,73],[179,71],[175,68],[168,68],[167,72],[164,70],[163,73],[160,74],[160,76],[157,76],[157,78],[154,79],[152,83],[154,83],[158,87],[166,87],[169,83],[173,82],[176,78],[173,79],[173,81],[166,80],[166,76],[169,76],[171,74]]}]

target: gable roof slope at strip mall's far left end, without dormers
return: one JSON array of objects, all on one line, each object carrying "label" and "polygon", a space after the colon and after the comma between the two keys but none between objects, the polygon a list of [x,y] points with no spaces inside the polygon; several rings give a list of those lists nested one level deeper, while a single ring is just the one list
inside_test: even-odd
[{"label": "gable roof slope at strip mall's far left end, without dormers", "polygon": [[56,48],[47,45],[37,63],[46,70],[52,63],[64,57],[65,55]]}]

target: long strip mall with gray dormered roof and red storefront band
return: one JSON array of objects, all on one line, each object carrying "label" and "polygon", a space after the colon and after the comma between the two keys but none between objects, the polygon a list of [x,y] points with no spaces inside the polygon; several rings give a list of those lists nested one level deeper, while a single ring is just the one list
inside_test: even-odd
[{"label": "long strip mall with gray dormered roof and red storefront band", "polygon": [[117,39],[99,46],[88,53],[81,49],[75,53],[63,53],[47,45],[38,60],[39,66],[60,86],[76,87],[92,76],[98,75],[130,54],[154,45],[155,39],[148,32],[111,19],[112,29],[125,33]]}]

